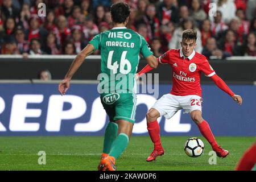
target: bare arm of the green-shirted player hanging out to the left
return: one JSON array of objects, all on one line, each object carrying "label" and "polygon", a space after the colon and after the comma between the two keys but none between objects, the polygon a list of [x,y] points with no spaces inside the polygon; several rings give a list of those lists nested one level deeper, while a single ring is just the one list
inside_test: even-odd
[{"label": "bare arm of the green-shirted player hanging out to the left", "polygon": [[75,60],[73,60],[71,66],[67,74],[65,75],[63,81],[59,84],[59,92],[61,95],[64,95],[70,86],[70,81],[73,75],[76,73],[77,69],[82,65],[85,60],[85,57],[89,56],[94,51],[94,46],[92,44],[88,44],[82,51],[76,56]]}]

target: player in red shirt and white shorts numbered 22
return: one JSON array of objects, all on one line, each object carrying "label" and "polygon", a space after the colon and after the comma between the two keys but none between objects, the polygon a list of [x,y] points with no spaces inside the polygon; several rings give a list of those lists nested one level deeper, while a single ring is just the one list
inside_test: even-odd
[{"label": "player in red shirt and white shorts numbered 22", "polygon": [[[147,162],[164,154],[160,140],[160,127],[156,119],[160,116],[170,119],[180,109],[184,109],[184,113],[191,115],[192,120],[199,127],[201,134],[208,140],[217,156],[225,158],[229,154],[229,151],[217,144],[210,126],[202,117],[200,73],[203,72],[205,76],[210,77],[221,90],[228,93],[239,105],[242,104],[242,98],[234,94],[228,85],[216,75],[205,56],[195,52],[196,34],[195,30],[184,30],[181,49],[171,49],[158,58],[159,64],[170,64],[173,69],[173,85],[171,92],[156,101],[146,114],[147,130],[154,143],[154,150],[148,156]],[[149,65],[146,65],[137,76],[141,76],[151,69]]]}]

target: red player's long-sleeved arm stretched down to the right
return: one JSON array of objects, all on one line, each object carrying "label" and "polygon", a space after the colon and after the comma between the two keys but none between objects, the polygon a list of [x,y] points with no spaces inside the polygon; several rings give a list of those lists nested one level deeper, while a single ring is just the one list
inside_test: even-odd
[{"label": "red player's long-sleeved arm stretched down to the right", "polygon": [[234,94],[234,92],[232,92],[229,86],[226,85],[226,83],[218,75],[216,75],[206,57],[204,57],[203,63],[200,64],[200,70],[205,73],[205,76],[210,77],[218,86],[218,88],[229,94],[229,96],[232,97],[234,101],[236,101],[239,105],[242,104],[242,97],[237,94]]}]

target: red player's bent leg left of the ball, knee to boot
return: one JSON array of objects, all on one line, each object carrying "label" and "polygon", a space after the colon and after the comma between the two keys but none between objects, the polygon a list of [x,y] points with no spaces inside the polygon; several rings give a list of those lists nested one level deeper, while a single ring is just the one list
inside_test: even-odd
[{"label": "red player's bent leg left of the ball, knee to boot", "polygon": [[158,117],[160,117],[159,112],[153,108],[148,110],[146,114],[148,134],[154,143],[154,150],[151,152],[150,156],[148,156],[147,162],[151,162],[152,160],[155,160],[157,156],[164,154],[160,139],[160,127],[156,120]]}]

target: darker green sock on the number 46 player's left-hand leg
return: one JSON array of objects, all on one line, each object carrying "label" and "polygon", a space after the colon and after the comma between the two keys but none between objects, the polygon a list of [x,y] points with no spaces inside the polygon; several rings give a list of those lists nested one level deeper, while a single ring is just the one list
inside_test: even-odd
[{"label": "darker green sock on the number 46 player's left-hand leg", "polygon": [[109,122],[105,130],[105,138],[103,152],[109,154],[112,143],[117,138],[118,125],[114,122]]}]

